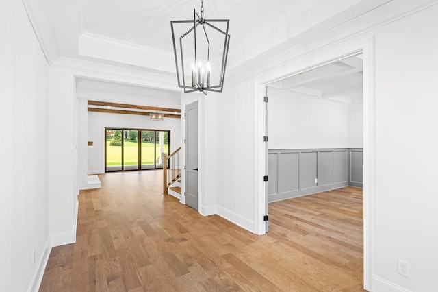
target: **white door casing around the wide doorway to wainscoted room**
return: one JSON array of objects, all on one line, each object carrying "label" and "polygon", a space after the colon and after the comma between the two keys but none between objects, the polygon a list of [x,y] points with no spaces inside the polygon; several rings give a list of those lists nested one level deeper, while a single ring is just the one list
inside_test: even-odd
[{"label": "white door casing around the wide doorway to wainscoted room", "polygon": [[376,200],[376,150],[375,150],[375,95],[374,95],[374,38],[366,37],[349,45],[326,47],[300,58],[300,62],[285,62],[272,69],[266,70],[255,80],[255,145],[257,169],[255,181],[257,183],[257,201],[255,204],[255,228],[258,234],[264,234],[266,223],[263,216],[266,211],[266,193],[263,176],[266,171],[265,145],[263,142],[265,131],[265,114],[263,97],[266,86],[285,77],[296,75],[309,69],[314,69],[348,56],[363,54],[363,286],[371,291],[372,275],[375,271],[375,210]]}]

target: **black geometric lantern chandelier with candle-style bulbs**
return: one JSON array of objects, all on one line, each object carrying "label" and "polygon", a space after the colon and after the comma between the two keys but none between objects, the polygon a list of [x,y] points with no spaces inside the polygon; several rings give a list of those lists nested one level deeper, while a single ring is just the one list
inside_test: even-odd
[{"label": "black geometric lantern chandelier with candle-style bulbs", "polygon": [[[170,21],[178,86],[184,93],[222,93],[227,67],[229,19],[204,19],[194,10],[193,20]],[[175,40],[175,34],[179,38]]]}]

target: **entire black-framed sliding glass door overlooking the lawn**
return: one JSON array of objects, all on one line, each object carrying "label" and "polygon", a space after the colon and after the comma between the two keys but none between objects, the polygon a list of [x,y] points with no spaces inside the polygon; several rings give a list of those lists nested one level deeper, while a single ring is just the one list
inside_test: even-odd
[{"label": "entire black-framed sliding glass door overlooking the lawn", "polygon": [[105,128],[105,172],[163,168],[170,131]]}]

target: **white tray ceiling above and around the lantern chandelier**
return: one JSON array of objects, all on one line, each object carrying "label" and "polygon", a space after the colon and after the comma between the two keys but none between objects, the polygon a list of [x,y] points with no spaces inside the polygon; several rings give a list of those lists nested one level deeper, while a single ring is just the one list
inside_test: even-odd
[{"label": "white tray ceiling above and around the lantern chandelier", "polygon": [[[390,0],[204,0],[206,19],[230,19],[227,69],[291,39],[309,39]],[[170,21],[197,0],[23,0],[49,62],[60,57],[175,74]]]}]

